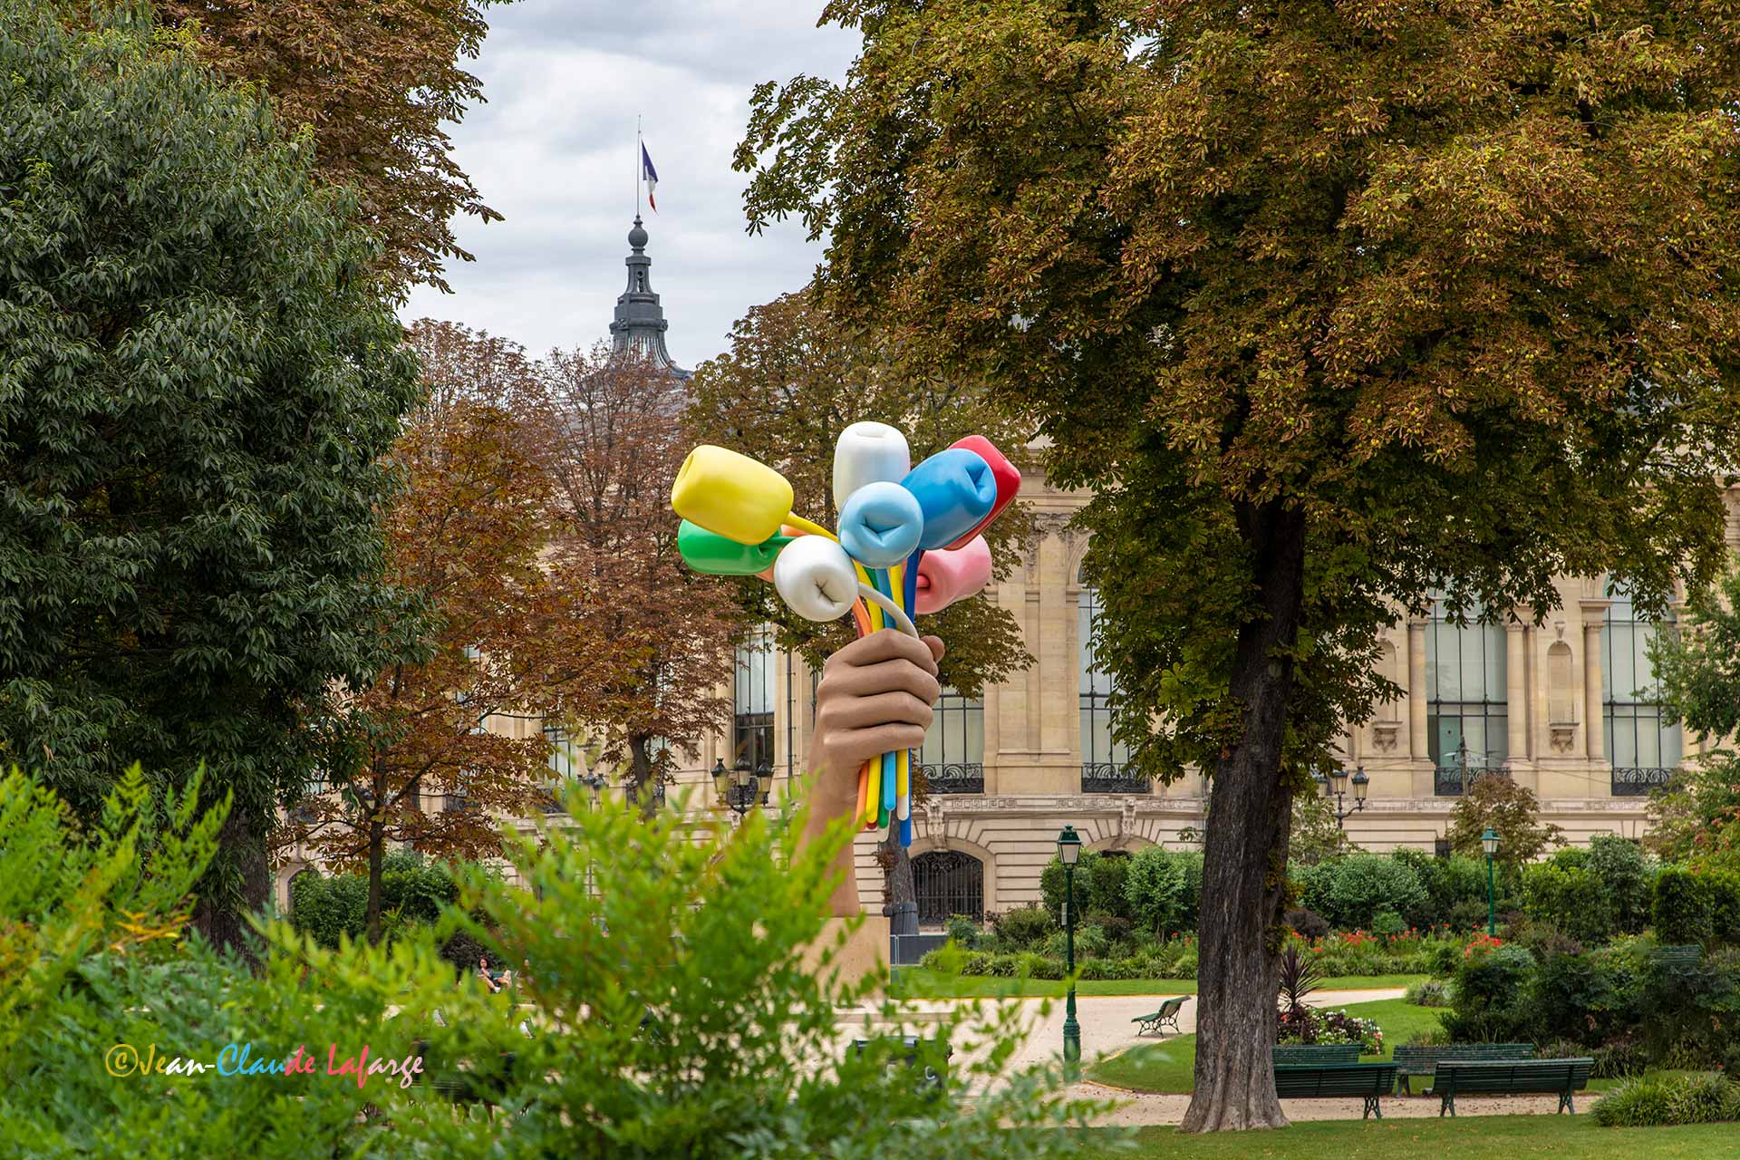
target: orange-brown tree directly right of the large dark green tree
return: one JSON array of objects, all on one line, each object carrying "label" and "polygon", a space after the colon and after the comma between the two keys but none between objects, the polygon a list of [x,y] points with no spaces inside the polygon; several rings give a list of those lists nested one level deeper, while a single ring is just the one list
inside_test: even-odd
[{"label": "orange-brown tree directly right of the large dark green tree", "polygon": [[[440,857],[494,854],[494,814],[541,802],[550,744],[536,725],[572,690],[607,680],[616,652],[590,616],[592,588],[550,553],[553,480],[531,419],[539,379],[520,348],[465,327],[411,330],[428,402],[392,459],[404,490],[388,515],[393,581],[426,602],[395,623],[409,659],[358,694],[336,795],[304,802],[298,837],[336,863],[367,863],[369,937],[379,937],[388,842]],[[487,727],[496,718],[496,727]]]}]

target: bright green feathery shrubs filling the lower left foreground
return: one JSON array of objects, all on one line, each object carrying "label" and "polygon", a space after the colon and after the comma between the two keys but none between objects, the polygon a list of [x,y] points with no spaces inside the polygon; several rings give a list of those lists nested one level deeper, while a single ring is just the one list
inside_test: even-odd
[{"label": "bright green feathery shrubs filling the lower left foreground", "polygon": [[[914,1028],[955,1050],[940,1089],[889,1066],[887,1040],[842,1054],[837,1003],[868,998],[820,937],[844,830],[792,849],[800,826],[760,816],[696,833],[623,803],[569,809],[564,828],[505,837],[531,889],[466,870],[440,927],[392,946],[329,950],[261,923],[251,974],[184,934],[221,810],[195,817],[191,795],[158,810],[136,777],[84,833],[50,791],[0,779],[7,1155],[1039,1158],[1077,1146],[1049,1129],[1105,1108],[1067,1099],[1051,1068],[1009,1068],[1021,1003]],[[524,963],[520,1005],[454,983],[435,953],[449,929]],[[115,1075],[122,1043],[212,1068]],[[256,1063],[301,1047],[315,1066],[218,1073],[242,1043]],[[466,1061],[501,1111],[398,1075],[329,1075],[364,1047],[407,1066],[421,1054],[425,1080]]]}]

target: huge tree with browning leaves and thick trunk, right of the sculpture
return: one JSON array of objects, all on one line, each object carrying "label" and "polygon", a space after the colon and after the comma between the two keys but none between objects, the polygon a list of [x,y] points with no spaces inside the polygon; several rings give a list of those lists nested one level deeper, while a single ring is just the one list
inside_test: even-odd
[{"label": "huge tree with browning leaves and thick trunk, right of the sculpture", "polygon": [[1740,447],[1740,16],[1714,0],[837,0],[844,82],[755,92],[752,228],[973,372],[1091,487],[1140,769],[1209,774],[1185,1130],[1284,1123],[1291,798],[1394,689],[1375,637],[1556,574],[1719,567]]}]

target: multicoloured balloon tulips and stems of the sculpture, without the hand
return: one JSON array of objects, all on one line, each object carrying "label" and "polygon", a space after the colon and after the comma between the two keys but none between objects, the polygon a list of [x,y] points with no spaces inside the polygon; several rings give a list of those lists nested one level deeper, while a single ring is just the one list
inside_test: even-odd
[{"label": "multicoloured balloon tulips and stems of the sculpture, without the hand", "polygon": [[[1021,487],[1021,473],[969,435],[912,466],[907,437],[886,423],[854,423],[833,449],[839,532],[792,511],[792,485],[764,463],[703,443],[689,452],[670,492],[682,517],[677,548],[698,572],[760,576],[811,621],[851,614],[858,635],[940,612],[990,583],[985,525]],[[912,845],[912,770],[907,750],[867,762],[858,817],[893,828]]]}]

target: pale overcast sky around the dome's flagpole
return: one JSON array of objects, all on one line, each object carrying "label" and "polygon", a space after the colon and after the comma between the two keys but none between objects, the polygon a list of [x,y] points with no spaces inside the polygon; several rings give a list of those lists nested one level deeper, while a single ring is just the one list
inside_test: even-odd
[{"label": "pale overcast sky around the dome's flagpole", "polygon": [[412,292],[411,318],[445,318],[532,353],[607,337],[623,292],[635,197],[635,117],[658,167],[644,210],[652,289],[684,367],[727,346],[757,303],[802,287],[820,259],[800,226],[743,231],[731,151],[750,89],[795,73],[840,78],[856,33],[816,28],[821,0],[519,0],[487,10],[472,64],[487,104],[452,130],[459,165],[506,221],[454,223],[475,263],[452,294]]}]

